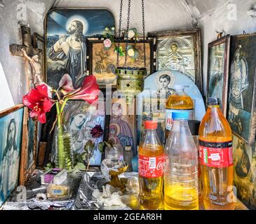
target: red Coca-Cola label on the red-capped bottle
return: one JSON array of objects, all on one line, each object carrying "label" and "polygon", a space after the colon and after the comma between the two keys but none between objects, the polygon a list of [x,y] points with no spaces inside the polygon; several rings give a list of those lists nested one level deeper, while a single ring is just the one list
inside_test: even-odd
[{"label": "red Coca-Cola label on the red-capped bottle", "polygon": [[139,154],[139,174],[146,178],[163,176],[164,156],[148,157]]}]

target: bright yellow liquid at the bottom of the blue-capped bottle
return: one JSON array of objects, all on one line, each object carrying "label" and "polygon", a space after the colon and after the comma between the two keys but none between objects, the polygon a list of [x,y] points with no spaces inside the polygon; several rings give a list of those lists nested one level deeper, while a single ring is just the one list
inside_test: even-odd
[{"label": "bright yellow liquid at the bottom of the blue-capped bottle", "polygon": [[198,210],[198,191],[196,187],[184,187],[181,184],[164,186],[165,210]]}]

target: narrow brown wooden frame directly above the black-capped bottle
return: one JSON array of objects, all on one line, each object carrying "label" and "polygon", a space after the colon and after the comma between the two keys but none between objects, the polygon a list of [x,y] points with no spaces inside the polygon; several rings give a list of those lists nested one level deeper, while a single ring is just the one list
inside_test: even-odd
[{"label": "narrow brown wooden frame directly above the black-capped bottle", "polygon": [[[220,87],[220,91],[222,92],[222,97],[220,96],[210,96],[210,69],[211,64],[213,62],[213,58],[211,58],[211,49],[216,48],[217,46],[220,46],[224,44],[224,52],[223,55],[217,55],[219,57],[222,57],[224,60],[223,63],[223,71],[220,71],[219,73],[223,73],[223,86]],[[206,86],[206,92],[208,97],[218,97],[221,100],[222,104],[222,113],[224,116],[227,116],[227,92],[228,92],[228,83],[229,83],[229,50],[230,50],[230,35],[223,36],[220,39],[217,39],[216,41],[213,41],[208,44],[208,71],[207,71],[207,86]],[[217,50],[216,50],[217,51]],[[220,50],[219,50],[220,51]]]}]

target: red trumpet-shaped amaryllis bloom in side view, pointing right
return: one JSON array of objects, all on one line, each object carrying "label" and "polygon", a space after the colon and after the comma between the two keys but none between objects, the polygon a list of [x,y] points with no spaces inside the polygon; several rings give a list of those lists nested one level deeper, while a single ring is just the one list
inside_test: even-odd
[{"label": "red trumpet-shaped amaryllis bloom in side view, pointing right", "polygon": [[69,99],[83,99],[88,102],[88,104],[93,104],[97,102],[99,94],[100,90],[95,76],[87,76],[83,80],[83,85],[74,92],[67,94],[67,97],[69,97]]}]

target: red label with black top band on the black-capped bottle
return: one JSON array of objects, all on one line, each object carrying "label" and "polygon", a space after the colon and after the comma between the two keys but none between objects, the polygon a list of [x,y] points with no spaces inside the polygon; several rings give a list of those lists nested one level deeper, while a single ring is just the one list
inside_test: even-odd
[{"label": "red label with black top band on the black-capped bottle", "polygon": [[201,165],[224,168],[233,165],[232,141],[209,142],[199,140]]}]

